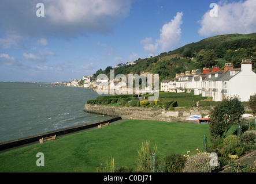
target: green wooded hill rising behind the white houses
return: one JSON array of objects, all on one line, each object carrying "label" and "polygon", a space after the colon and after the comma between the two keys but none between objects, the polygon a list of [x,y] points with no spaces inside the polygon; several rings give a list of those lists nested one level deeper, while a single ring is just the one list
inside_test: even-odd
[{"label": "green wooded hill rising behind the white houses", "polygon": [[[253,70],[256,70],[256,33],[213,36],[155,57],[139,58],[133,65],[121,63],[118,64],[120,68],[115,69],[115,75],[150,72],[159,74],[161,81],[175,77],[176,73],[203,67],[212,68],[217,65],[223,68],[227,62],[233,63],[235,68],[240,68],[242,59],[251,59]],[[112,67],[99,69],[94,77],[99,74],[109,75],[111,69]]]}]

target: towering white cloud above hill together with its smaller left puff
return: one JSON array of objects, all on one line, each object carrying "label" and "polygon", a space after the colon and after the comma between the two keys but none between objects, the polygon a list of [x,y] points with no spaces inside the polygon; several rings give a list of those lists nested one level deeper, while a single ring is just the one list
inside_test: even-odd
[{"label": "towering white cloud above hill together with its smaller left puff", "polygon": [[144,50],[149,52],[149,56],[157,55],[158,46],[161,47],[162,52],[169,52],[170,49],[180,46],[182,16],[182,12],[177,12],[173,20],[162,26],[160,38],[156,40],[155,44],[151,37],[140,41]]}]

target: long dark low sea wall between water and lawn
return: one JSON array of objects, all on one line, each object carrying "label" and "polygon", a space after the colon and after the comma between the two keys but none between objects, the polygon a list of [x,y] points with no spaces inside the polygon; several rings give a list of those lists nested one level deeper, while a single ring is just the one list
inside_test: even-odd
[{"label": "long dark low sea wall between water and lawn", "polygon": [[41,139],[42,137],[49,137],[49,136],[56,135],[57,139],[58,139],[58,136],[61,136],[61,135],[78,132],[78,131],[83,131],[88,128],[98,127],[99,124],[104,124],[106,122],[114,122],[117,120],[121,120],[121,117],[114,116],[112,118],[108,118],[107,120],[103,120],[103,121],[92,122],[92,123],[88,123],[88,124],[84,124],[84,125],[77,125],[75,127],[62,128],[62,129],[58,129],[56,131],[46,132],[46,133],[42,133],[42,134],[38,134],[38,135],[34,135],[34,136],[28,136],[28,137],[23,137],[20,139],[4,141],[4,142],[0,143],[0,151],[6,150],[9,148],[13,148],[13,147],[18,147],[18,146],[24,145],[24,144],[33,143],[35,141],[38,141],[38,143],[39,143],[39,139]]}]

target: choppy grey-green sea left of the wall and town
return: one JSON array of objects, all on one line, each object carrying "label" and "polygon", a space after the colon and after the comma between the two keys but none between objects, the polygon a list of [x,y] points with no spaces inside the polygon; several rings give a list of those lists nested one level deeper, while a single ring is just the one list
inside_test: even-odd
[{"label": "choppy grey-green sea left of the wall and town", "polygon": [[92,89],[38,82],[0,82],[0,143],[61,128],[106,120],[84,112]]}]

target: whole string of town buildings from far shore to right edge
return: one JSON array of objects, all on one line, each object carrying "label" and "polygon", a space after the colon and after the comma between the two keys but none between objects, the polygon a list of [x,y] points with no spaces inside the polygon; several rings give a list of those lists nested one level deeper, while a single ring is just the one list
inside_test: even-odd
[{"label": "whole string of town buildings from far shore to right edge", "polygon": [[[248,101],[251,95],[256,94],[255,82],[256,74],[252,71],[252,62],[250,59],[244,59],[241,68],[233,68],[232,63],[225,63],[224,70],[213,66],[212,68],[203,68],[203,71],[196,69],[176,74],[175,78],[161,81],[159,89],[175,93],[194,92],[195,95],[202,94],[202,97],[211,97],[212,101],[222,101],[223,98],[233,96],[239,96],[241,101]],[[95,79],[91,75],[60,84],[106,91],[109,94],[113,90],[122,94],[127,94],[128,90],[132,90],[124,81],[110,81],[108,78]],[[140,90],[141,93],[152,93],[152,91],[149,87]]]}]

